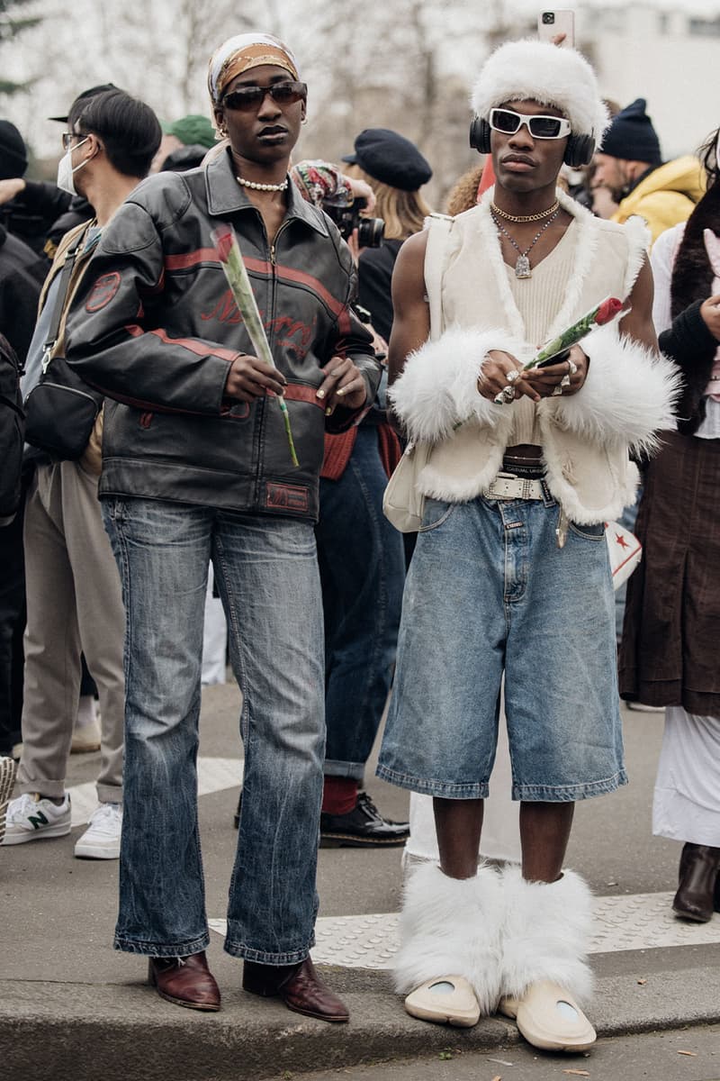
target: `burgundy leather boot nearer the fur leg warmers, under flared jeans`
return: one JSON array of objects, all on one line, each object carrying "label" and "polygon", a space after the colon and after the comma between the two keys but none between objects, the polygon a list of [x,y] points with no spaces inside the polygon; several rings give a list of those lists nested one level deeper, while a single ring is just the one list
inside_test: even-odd
[{"label": "burgundy leather boot nearer the fur leg warmers, under flared jeans", "polygon": [[288,1010],[317,1020],[350,1020],[348,1007],[334,995],[305,958],[299,964],[258,964],[245,961],[243,989],[263,998],[279,998]]}]

